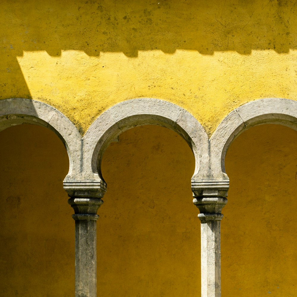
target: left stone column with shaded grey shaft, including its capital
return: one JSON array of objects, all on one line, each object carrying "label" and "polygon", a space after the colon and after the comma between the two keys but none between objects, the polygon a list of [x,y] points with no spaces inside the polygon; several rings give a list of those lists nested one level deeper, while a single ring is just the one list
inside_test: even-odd
[{"label": "left stone column with shaded grey shaft, including its capital", "polygon": [[75,297],[97,297],[96,221],[106,186],[102,181],[64,181],[64,189],[75,213]]}]

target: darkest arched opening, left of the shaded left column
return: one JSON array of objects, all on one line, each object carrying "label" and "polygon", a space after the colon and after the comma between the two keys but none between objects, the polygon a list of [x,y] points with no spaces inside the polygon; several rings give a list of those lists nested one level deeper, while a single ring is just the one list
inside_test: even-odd
[{"label": "darkest arched opening, left of the shaded left column", "polygon": [[74,226],[63,189],[67,151],[54,132],[37,125],[12,126],[0,137],[0,291],[73,296]]}]

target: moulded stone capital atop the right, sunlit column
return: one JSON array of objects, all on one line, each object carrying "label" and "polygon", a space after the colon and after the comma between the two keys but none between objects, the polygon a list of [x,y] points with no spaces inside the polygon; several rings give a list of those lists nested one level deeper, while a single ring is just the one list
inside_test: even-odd
[{"label": "moulded stone capital atop the right, sunlit column", "polygon": [[229,181],[192,181],[193,203],[199,208],[201,223],[207,220],[221,220],[222,208],[227,203]]}]

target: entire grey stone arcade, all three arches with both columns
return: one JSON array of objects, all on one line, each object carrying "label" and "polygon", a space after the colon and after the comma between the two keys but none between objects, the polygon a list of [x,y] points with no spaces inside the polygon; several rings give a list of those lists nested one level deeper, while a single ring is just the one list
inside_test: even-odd
[{"label": "entire grey stone arcade, all three arches with both columns", "polygon": [[141,125],[167,127],[188,143],[195,156],[193,203],[201,221],[201,295],[221,296],[220,221],[227,203],[229,178],[225,155],[232,141],[250,127],[277,123],[297,130],[297,102],[270,98],[248,102],[231,111],[208,139],[201,124],[186,110],[158,99],[132,99],[100,115],[81,137],[56,108],[30,99],[0,101],[0,131],[17,124],[36,124],[53,130],[69,156],[64,189],[75,211],[75,296],[95,297],[96,220],[106,184],[101,174],[103,154],[125,130]]}]

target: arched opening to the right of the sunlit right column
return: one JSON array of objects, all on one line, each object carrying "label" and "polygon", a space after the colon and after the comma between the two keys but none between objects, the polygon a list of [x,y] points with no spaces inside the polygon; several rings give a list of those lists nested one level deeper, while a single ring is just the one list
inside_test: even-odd
[{"label": "arched opening to the right of the sunlit right column", "polygon": [[243,132],[227,151],[222,297],[297,294],[296,144],[295,130],[263,124]]}]

